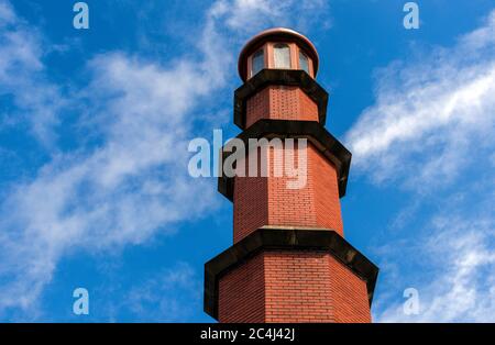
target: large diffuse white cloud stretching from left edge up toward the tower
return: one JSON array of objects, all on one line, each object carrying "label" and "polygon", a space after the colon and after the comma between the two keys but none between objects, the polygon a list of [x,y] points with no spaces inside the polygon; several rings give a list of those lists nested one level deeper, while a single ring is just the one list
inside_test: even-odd
[{"label": "large diffuse white cloud stretching from left edge up toward the tower", "polygon": [[74,247],[139,244],[215,205],[215,189],[185,168],[186,114],[212,90],[196,67],[167,70],[119,54],[91,62],[87,91],[106,104],[94,114],[105,143],[57,156],[4,202],[0,309],[30,305]]}]

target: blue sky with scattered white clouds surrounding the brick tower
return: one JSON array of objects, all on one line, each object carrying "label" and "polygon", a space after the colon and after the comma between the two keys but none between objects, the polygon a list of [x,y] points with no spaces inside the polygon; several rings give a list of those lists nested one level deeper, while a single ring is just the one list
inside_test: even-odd
[{"label": "blue sky with scattered white clouds surrounding the brick tower", "polygon": [[188,176],[187,144],[239,133],[237,55],[272,26],[319,51],[374,320],[495,321],[493,1],[417,1],[405,30],[398,0],[88,0],[87,31],[75,2],[0,0],[1,321],[212,321],[204,263],[232,205]]}]

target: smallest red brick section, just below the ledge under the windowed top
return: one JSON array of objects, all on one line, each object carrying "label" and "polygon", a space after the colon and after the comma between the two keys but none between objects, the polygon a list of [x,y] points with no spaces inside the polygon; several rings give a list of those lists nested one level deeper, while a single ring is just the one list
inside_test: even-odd
[{"label": "smallest red brick section, just below the ledge under the windowed top", "polygon": [[298,87],[268,86],[246,101],[246,127],[260,119],[318,121],[318,105]]}]

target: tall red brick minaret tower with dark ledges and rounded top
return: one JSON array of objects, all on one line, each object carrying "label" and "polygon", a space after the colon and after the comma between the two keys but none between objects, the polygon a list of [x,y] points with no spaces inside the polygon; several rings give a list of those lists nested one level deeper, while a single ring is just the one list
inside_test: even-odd
[{"label": "tall red brick minaret tower with dark ledges and rounded top", "polygon": [[[318,64],[312,43],[288,29],[257,34],[240,54],[238,137],[307,138],[307,182],[288,189],[284,176],[219,178],[233,202],[233,245],[205,265],[205,311],[220,322],[371,322],[378,269],[343,237],[351,153],[323,127]],[[280,148],[266,149],[272,171],[270,153]]]}]

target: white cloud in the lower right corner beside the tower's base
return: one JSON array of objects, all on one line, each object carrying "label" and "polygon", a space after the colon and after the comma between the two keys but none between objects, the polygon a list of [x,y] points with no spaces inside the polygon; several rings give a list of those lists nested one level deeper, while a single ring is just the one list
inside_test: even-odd
[{"label": "white cloud in the lower right corner beside the tower's base", "polygon": [[[377,322],[493,322],[495,320],[495,229],[490,216],[465,221],[442,215],[429,225],[425,243],[417,238],[413,247],[387,251],[387,259],[397,256],[421,261],[430,271],[430,281],[413,285],[419,292],[419,314],[406,315],[403,302],[378,301]],[[414,258],[416,256],[416,258]],[[419,258],[418,258],[419,257]],[[403,272],[404,274],[404,272]],[[418,274],[414,275],[418,276]],[[396,277],[397,278],[397,277]],[[402,277],[411,279],[411,277]],[[396,285],[396,288],[398,286]],[[402,297],[396,291],[396,297]]]}]

